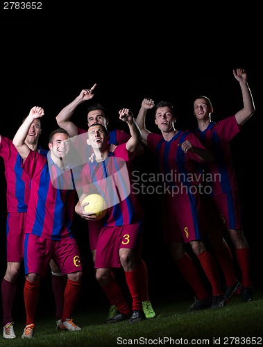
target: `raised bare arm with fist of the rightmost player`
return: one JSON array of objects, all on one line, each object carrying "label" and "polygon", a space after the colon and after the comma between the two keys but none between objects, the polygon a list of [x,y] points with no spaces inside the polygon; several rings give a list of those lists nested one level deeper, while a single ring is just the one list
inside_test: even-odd
[{"label": "raised bare arm with fist of the rightmost player", "polygon": [[239,110],[235,117],[238,124],[244,124],[244,122],[253,115],[255,112],[255,105],[253,102],[253,97],[251,90],[248,87],[247,74],[244,69],[233,70],[234,77],[239,81],[241,87],[244,108]]}]

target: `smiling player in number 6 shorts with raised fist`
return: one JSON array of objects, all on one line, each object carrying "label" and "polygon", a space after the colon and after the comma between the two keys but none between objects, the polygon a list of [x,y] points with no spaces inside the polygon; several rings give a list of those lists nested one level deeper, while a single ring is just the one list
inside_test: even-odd
[{"label": "smiling player in number 6 shorts with raised fist", "polygon": [[23,339],[31,339],[34,335],[40,278],[46,275],[51,259],[58,264],[62,275],[67,275],[62,318],[58,328],[80,330],[71,319],[83,275],[80,252],[71,230],[76,191],[57,189],[51,180],[51,173],[58,176],[62,174],[66,181],[67,178],[71,180],[71,171],[65,171],[69,166],[69,134],[62,128],[50,134],[50,153],[47,158],[32,151],[24,142],[32,122],[43,115],[42,108],[33,107],[13,139],[13,144],[23,159],[19,165],[22,164],[23,172],[31,178],[24,239],[26,327]]}]

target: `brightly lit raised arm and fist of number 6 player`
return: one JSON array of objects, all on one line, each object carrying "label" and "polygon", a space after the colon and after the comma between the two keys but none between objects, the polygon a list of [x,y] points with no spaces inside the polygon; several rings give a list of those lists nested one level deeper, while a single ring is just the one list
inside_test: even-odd
[{"label": "brightly lit raised arm and fist of number 6 player", "polygon": [[28,116],[26,117],[22,125],[19,127],[17,133],[15,134],[15,137],[12,140],[12,143],[14,144],[18,153],[22,156],[24,160],[31,151],[27,144],[25,144],[25,139],[28,135],[28,130],[30,129],[33,120],[42,116],[44,116],[43,108],[39,106],[34,106],[33,108],[31,108]]}]

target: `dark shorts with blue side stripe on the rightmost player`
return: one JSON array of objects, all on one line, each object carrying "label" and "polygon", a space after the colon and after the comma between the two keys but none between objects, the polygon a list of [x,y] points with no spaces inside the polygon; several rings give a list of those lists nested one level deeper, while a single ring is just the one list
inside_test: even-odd
[{"label": "dark shorts with blue side stripe on the rightmost player", "polygon": [[212,197],[217,213],[223,226],[227,229],[239,230],[242,228],[239,192],[229,192]]}]

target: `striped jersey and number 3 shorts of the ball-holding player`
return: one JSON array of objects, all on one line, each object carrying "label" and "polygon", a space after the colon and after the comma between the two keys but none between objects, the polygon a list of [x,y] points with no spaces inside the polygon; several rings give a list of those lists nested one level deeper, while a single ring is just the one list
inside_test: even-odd
[{"label": "striped jersey and number 3 shorts of the ball-holding player", "polygon": [[101,194],[108,205],[96,242],[96,269],[120,267],[119,248],[135,249],[141,255],[144,214],[126,167],[134,156],[121,144],[103,162],[89,162],[83,168],[83,192]]}]

